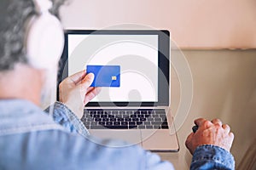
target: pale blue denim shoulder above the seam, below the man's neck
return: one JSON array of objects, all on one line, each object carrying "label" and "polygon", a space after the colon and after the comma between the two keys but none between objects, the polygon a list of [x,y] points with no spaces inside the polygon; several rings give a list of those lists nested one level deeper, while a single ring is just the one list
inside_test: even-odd
[{"label": "pale blue denim shoulder above the seam, below the man's neck", "polygon": [[63,129],[37,105],[23,99],[0,100],[0,135]]}]

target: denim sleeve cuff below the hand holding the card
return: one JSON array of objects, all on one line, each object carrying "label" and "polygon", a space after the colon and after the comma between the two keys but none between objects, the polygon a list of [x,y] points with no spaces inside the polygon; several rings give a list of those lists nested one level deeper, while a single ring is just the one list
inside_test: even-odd
[{"label": "denim sleeve cuff below the hand holding the card", "polygon": [[84,137],[87,137],[90,133],[84,126],[84,123],[79,120],[73,111],[68,109],[67,105],[56,101],[54,105],[50,105],[44,110],[52,115],[54,121],[65,127],[67,131],[71,133],[79,133]]}]

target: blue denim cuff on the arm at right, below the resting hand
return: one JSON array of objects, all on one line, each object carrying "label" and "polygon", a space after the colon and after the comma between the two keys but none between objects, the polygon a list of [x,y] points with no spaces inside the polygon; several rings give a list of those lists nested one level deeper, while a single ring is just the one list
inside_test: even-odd
[{"label": "blue denim cuff on the arm at right, below the resting hand", "polygon": [[234,170],[235,160],[229,151],[212,144],[204,144],[195,150],[190,166],[190,170],[194,169]]}]

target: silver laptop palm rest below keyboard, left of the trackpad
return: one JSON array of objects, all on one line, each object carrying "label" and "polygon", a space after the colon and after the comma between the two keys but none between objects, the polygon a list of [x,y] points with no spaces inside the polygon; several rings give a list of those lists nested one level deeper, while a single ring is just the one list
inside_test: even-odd
[{"label": "silver laptop palm rest below keyboard, left of the trackpad", "polygon": [[128,144],[113,144],[112,147],[123,147],[133,144],[142,146],[142,136],[138,129],[95,129],[89,130],[90,134],[100,139],[115,139],[128,142]]}]

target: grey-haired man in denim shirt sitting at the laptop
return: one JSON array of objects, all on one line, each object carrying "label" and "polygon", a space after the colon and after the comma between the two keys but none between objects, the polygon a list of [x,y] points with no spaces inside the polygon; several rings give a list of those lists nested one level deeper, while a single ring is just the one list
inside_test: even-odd
[{"label": "grey-haired man in denim shirt sitting at the laptop", "polygon": [[[34,3],[1,3],[0,169],[173,169],[170,162],[137,145],[107,147],[123,142],[89,135],[79,118],[100,91],[90,88],[93,74],[81,71],[67,77],[52,114],[41,111],[38,105],[48,87],[49,70],[32,65],[24,50],[26,20],[36,14]],[[58,14],[60,4],[54,1],[53,14]],[[56,63],[52,65],[49,68]],[[198,130],[186,141],[194,155],[191,169],[234,169],[230,127],[218,119],[201,118],[195,124]]]}]

